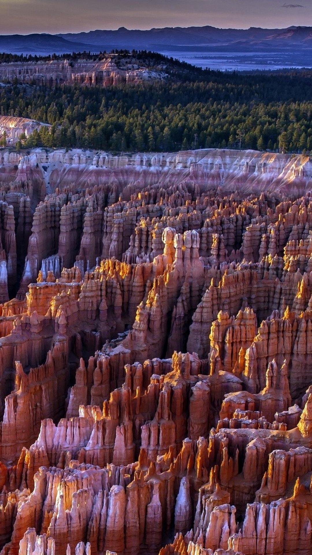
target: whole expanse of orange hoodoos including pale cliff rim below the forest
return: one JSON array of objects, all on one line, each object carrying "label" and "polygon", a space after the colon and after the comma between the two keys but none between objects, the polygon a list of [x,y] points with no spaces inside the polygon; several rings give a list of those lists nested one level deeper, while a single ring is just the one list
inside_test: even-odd
[{"label": "whole expanse of orange hoodoos including pale cliff rim below the forest", "polygon": [[309,159],[1,157],[1,554],[308,555]]}]

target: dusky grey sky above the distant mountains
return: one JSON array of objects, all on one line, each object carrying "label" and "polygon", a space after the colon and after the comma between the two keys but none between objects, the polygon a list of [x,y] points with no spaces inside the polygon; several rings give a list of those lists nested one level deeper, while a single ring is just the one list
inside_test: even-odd
[{"label": "dusky grey sky above the distant mountains", "polygon": [[312,25],[312,0],[0,0],[0,34]]}]

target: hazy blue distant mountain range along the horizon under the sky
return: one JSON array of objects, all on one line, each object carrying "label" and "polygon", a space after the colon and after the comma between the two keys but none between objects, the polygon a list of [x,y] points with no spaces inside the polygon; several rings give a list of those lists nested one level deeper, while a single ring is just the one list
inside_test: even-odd
[{"label": "hazy blue distant mountain range along the horizon under the sky", "polygon": [[285,29],[219,29],[216,27],[164,27],[140,31],[120,27],[117,31],[88,33],[1,35],[0,52],[14,54],[62,54],[110,51],[113,48],[170,51],[256,51],[312,49],[312,27]]}]

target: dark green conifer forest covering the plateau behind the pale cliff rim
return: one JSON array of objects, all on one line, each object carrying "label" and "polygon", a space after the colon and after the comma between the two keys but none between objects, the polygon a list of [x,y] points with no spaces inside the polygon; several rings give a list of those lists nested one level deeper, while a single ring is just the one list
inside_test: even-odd
[{"label": "dark green conifer forest covering the plateau behind the pale cliff rim", "polygon": [[24,140],[26,147],[312,151],[311,70],[222,73],[171,63],[165,81],[108,88],[6,85],[1,114],[52,124],[51,132],[42,128]]}]

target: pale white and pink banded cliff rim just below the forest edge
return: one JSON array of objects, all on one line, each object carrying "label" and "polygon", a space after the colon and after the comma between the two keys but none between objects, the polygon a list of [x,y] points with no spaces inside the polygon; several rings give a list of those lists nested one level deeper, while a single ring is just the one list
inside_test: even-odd
[{"label": "pale white and pink banded cliff rim just below the forest edge", "polygon": [[33,149],[27,153],[4,149],[0,150],[0,168],[2,181],[25,180],[28,176],[33,178],[32,174],[38,179],[40,174],[46,184],[44,193],[73,183],[80,188],[109,184],[112,193],[122,193],[127,200],[134,185],[137,191],[148,185],[197,185],[199,195],[219,186],[227,194],[237,190],[291,197],[312,189],[312,162],[308,156],[255,150],[203,149],[113,156],[79,149]]}]

